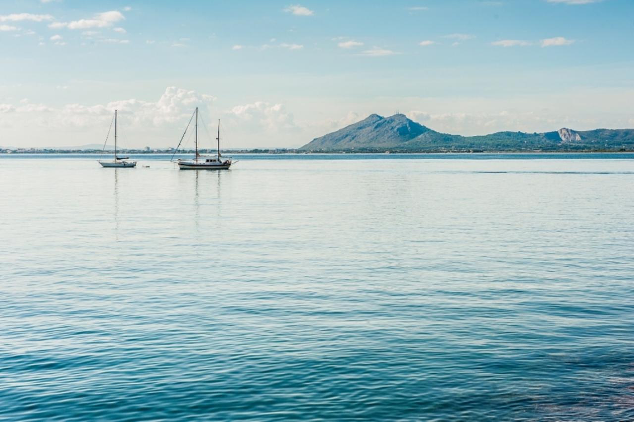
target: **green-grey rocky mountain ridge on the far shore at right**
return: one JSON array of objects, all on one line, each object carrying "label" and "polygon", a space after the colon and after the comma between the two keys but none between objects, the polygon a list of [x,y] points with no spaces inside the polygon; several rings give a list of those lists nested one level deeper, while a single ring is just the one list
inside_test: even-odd
[{"label": "green-grey rocky mountain ridge on the far shore at right", "polygon": [[574,131],[562,128],[545,133],[496,132],[481,136],[450,135],[411,121],[404,114],[372,114],[346,128],[315,138],[301,150],[634,150],[634,129]]}]

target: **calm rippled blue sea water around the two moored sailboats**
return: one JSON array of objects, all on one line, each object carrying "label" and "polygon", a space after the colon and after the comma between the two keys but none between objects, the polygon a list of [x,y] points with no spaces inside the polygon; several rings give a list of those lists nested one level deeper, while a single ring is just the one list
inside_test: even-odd
[{"label": "calm rippled blue sea water around the two moored sailboats", "polygon": [[634,159],[483,157],[5,155],[0,419],[634,419]]}]

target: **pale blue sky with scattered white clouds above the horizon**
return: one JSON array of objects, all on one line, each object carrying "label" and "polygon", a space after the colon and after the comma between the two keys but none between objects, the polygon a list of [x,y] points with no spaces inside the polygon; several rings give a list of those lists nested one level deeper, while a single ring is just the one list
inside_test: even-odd
[{"label": "pale blue sky with scattered white clouds above the horizon", "polygon": [[[396,112],[459,135],[634,127],[633,0],[2,0],[0,146],[300,147]],[[184,143],[192,145],[191,138]],[[111,143],[111,142],[108,142]]]}]

